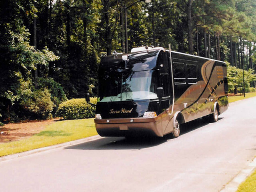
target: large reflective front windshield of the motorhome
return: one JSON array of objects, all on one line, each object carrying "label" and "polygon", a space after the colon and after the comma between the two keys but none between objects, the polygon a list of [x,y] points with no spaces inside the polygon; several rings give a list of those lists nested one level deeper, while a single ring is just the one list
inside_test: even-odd
[{"label": "large reflective front windshield of the motorhome", "polygon": [[157,99],[154,70],[103,72],[99,77],[100,102]]}]

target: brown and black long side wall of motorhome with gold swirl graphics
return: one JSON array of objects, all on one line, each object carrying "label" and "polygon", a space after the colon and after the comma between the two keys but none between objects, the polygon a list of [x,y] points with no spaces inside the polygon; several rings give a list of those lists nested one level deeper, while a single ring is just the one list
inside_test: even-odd
[{"label": "brown and black long side wall of motorhome with gold swirl graphics", "polygon": [[[172,62],[184,64],[184,75],[186,78],[185,82],[182,80],[182,76],[178,80],[174,79],[176,84],[174,85],[175,103],[173,114],[180,111],[184,116],[185,122],[189,122],[212,114],[215,102],[218,102],[219,114],[227,110],[226,64],[216,60],[207,60],[179,54],[172,55]],[[189,78],[190,67],[188,65],[196,65],[196,81],[193,78]],[[173,131],[171,123],[173,121],[173,114],[170,116],[170,123],[164,134]]]}]

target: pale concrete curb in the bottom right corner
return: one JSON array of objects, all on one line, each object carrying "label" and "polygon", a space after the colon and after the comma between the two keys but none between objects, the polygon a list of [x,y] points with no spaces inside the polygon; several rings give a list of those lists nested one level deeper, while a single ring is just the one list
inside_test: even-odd
[{"label": "pale concrete curb in the bottom right corner", "polygon": [[236,192],[238,186],[250,176],[256,169],[256,158],[254,158],[247,166],[240,171],[228,184],[224,186],[220,192]]}]

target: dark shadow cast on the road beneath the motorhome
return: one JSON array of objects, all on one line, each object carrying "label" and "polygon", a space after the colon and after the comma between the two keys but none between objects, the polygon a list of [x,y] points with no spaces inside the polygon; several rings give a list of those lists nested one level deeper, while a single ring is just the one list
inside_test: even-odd
[{"label": "dark shadow cast on the road beneath the motorhome", "polygon": [[[221,120],[222,118],[218,118]],[[203,119],[197,119],[186,124],[183,124],[181,129],[181,135],[187,134],[196,130],[202,126],[207,125]],[[140,150],[143,148],[150,148],[158,146],[169,139],[174,139],[172,134],[168,134],[164,137],[151,137],[151,138],[129,138],[124,137],[103,137],[101,139],[85,142],[83,144],[78,144],[64,149],[76,149],[76,150]],[[179,139],[179,138],[175,138]]]}]

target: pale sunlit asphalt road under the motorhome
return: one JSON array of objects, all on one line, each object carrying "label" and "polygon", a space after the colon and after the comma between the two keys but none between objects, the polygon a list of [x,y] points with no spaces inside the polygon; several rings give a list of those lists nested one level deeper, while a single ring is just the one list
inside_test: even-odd
[{"label": "pale sunlit asphalt road under the motorhome", "polygon": [[182,135],[102,138],[0,163],[2,192],[218,192],[256,155],[256,98]]}]

